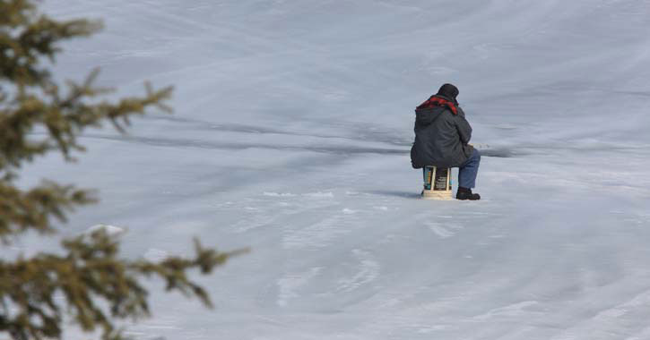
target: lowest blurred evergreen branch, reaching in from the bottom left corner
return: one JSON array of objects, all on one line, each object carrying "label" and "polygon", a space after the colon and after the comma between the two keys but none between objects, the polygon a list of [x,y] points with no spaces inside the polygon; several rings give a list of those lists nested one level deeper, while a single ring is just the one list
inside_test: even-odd
[{"label": "lowest blurred evergreen branch, reaching in from the bottom left corner", "polygon": [[[120,338],[112,319],[138,320],[150,315],[148,293],[139,276],[158,277],[168,291],[196,297],[212,306],[204,288],[188,278],[199,269],[209,273],[245,251],[206,250],[196,242],[195,257],[160,262],[118,257],[119,243],[100,230],[63,242],[65,256],[39,254],[13,262],[0,260],[0,301],[13,313],[0,313],[0,332],[14,338],[60,338],[64,312],[84,331],[100,328],[102,338]],[[102,307],[105,305],[105,307]]]}]

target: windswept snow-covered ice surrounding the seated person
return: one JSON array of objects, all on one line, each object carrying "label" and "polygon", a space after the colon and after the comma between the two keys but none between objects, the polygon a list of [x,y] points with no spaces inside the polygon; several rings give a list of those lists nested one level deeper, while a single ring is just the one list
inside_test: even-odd
[{"label": "windswept snow-covered ice surrounding the seated person", "polygon": [[[201,278],[215,310],[152,284],[137,339],[650,338],[647,1],[45,7],[106,24],[59,76],[176,87],[174,115],[27,169],[100,190],[63,234],[119,225],[147,259],[192,236],[252,250]],[[443,82],[484,149],[479,202],[418,198],[413,108]]]}]

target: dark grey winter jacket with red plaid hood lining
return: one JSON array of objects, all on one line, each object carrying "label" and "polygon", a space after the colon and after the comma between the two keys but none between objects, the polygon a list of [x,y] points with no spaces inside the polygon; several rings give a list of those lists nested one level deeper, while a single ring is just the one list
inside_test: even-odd
[{"label": "dark grey winter jacket with red plaid hood lining", "polygon": [[462,166],[473,148],[472,126],[454,99],[432,96],[415,109],[415,142],[411,163],[416,169],[424,166]]}]

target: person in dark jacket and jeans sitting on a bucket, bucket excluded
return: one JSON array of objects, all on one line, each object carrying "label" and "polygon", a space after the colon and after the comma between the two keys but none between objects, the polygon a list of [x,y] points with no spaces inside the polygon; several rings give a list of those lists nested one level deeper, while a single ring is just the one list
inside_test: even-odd
[{"label": "person in dark jacket and jeans sitting on a bucket, bucket excluded", "polygon": [[472,193],[476,186],[481,154],[469,144],[472,126],[458,106],[458,88],[445,84],[438,93],[415,109],[415,142],[411,149],[413,168],[458,167],[458,200],[481,200]]}]

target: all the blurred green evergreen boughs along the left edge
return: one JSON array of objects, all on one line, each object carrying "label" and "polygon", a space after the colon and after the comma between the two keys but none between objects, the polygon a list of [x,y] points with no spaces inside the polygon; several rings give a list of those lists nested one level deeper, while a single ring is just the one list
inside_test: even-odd
[{"label": "all the blurred green evergreen boughs along the left edge", "polygon": [[[85,81],[56,83],[48,65],[61,41],[90,36],[97,21],[56,21],[39,13],[33,0],[0,0],[0,240],[6,247],[28,231],[56,234],[55,220],[75,207],[96,201],[91,191],[45,181],[30,189],[15,184],[21,166],[48,152],[74,161],[82,151],[77,136],[87,127],[112,123],[125,132],[129,117],[149,107],[170,111],[164,101],[171,88],[145,85],[143,97],[102,99],[108,90],[95,87],[98,72]],[[35,134],[35,130],[46,133]],[[117,320],[150,315],[141,280],[159,277],[168,291],[196,297],[211,307],[202,287],[188,278],[190,269],[209,274],[243,251],[219,252],[195,241],[195,258],[169,257],[159,262],[122,259],[119,242],[105,231],[62,242],[64,255],[40,253],[0,260],[0,336],[14,340],[63,336],[62,324],[73,319],[104,340],[123,339]]]}]

